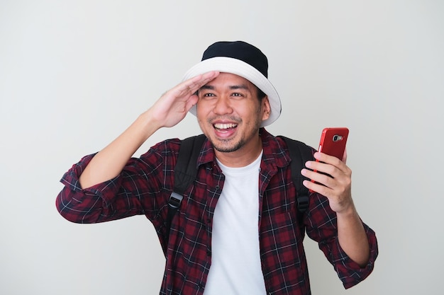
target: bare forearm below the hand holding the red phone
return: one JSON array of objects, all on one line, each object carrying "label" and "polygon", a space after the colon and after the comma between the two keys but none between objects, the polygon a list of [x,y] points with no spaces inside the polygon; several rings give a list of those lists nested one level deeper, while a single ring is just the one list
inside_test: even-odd
[{"label": "bare forearm below the hand holding the red phone", "polygon": [[364,226],[354,206],[348,212],[338,213],[338,241],[351,260],[361,267],[370,258],[370,246]]}]

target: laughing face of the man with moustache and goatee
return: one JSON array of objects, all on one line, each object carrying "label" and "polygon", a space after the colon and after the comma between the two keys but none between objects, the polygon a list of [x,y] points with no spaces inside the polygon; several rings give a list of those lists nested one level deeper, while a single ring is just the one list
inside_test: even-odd
[{"label": "laughing face of the man with moustache and goatee", "polygon": [[268,98],[257,98],[257,88],[235,74],[221,73],[199,90],[197,120],[216,151],[233,152],[260,143],[262,120],[270,115]]}]

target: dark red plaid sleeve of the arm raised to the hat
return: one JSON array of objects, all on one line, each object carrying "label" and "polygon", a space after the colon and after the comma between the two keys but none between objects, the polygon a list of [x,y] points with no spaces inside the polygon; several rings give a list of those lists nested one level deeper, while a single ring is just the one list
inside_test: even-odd
[{"label": "dark red plaid sleeve of the arm raised to the hat", "polygon": [[165,154],[175,152],[165,151],[165,146],[159,144],[140,158],[131,158],[116,178],[82,189],[79,176],[94,154],[85,156],[60,180],[65,187],[57,195],[57,210],[65,219],[82,224],[138,214],[154,219],[167,202],[165,173],[171,169],[165,163]]}]

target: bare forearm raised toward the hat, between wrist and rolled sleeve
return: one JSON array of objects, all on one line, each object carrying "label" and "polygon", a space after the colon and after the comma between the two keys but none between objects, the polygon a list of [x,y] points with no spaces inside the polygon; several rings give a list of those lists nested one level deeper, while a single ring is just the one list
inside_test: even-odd
[{"label": "bare forearm raised toward the hat, between wrist and rolled sleeve", "polygon": [[119,137],[91,159],[91,162],[79,177],[82,188],[91,187],[115,178],[121,173],[135,151],[158,128],[151,119],[149,110],[140,115]]}]

